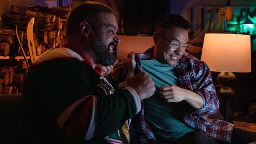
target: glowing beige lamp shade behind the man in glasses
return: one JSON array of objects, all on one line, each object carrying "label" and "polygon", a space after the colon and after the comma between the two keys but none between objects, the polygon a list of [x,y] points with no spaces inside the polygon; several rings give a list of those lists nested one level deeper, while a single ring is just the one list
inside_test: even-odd
[{"label": "glowing beige lamp shade behind the man in glasses", "polygon": [[251,72],[250,35],[206,33],[201,61],[214,72]]}]

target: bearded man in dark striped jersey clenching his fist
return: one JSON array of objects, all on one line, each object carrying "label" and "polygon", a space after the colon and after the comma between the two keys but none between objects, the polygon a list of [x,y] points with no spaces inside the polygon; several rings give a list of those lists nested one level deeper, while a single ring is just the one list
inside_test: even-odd
[{"label": "bearded man in dark striped jersey clenching his fist", "polygon": [[123,124],[153,95],[153,81],[142,72],[115,90],[95,67],[116,60],[120,39],[110,7],[84,2],[71,11],[66,29],[66,44],[40,55],[28,71],[20,142],[129,143]]}]

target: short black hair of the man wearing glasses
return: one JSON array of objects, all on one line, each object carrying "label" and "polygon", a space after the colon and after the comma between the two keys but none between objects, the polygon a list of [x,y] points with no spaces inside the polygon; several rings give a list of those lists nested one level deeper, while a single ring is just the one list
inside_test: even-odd
[{"label": "short black hair of the man wearing glasses", "polygon": [[181,15],[175,15],[175,14],[169,14],[165,16],[161,16],[155,26],[155,32],[160,28],[161,30],[168,31],[170,26],[177,26],[185,30],[190,29],[190,24],[185,18],[183,18]]}]

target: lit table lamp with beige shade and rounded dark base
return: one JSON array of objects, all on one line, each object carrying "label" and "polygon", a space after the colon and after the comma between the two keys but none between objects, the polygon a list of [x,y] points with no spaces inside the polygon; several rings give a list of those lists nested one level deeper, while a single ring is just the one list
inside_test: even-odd
[{"label": "lit table lamp with beige shade and rounded dark base", "polygon": [[210,71],[221,72],[217,77],[223,85],[217,92],[221,99],[220,112],[224,120],[232,122],[231,96],[235,93],[230,85],[236,79],[232,72],[251,72],[250,35],[206,33],[201,61]]}]

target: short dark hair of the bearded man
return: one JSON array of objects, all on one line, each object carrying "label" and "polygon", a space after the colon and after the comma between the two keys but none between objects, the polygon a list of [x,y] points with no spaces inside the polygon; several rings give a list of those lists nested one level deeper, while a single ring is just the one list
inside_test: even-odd
[{"label": "short dark hair of the bearded man", "polygon": [[96,30],[96,27],[102,22],[101,13],[113,13],[116,16],[109,6],[99,2],[86,1],[77,5],[67,18],[66,35],[75,34],[82,21],[86,21],[93,30]]}]

